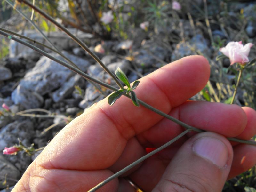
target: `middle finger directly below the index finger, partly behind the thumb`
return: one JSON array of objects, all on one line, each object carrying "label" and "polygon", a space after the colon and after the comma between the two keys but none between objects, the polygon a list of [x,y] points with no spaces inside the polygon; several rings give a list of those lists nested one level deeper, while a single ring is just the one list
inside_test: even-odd
[{"label": "middle finger directly below the index finger, partly behind the thumb", "polygon": [[[252,119],[255,119],[256,116],[245,113],[244,110],[237,105],[187,101],[173,108],[169,115],[193,127],[205,131],[217,132],[226,137],[236,137],[242,132],[252,137],[255,132],[255,124],[253,125],[255,120]],[[246,115],[248,115],[250,120],[249,124],[247,123]],[[246,124],[248,131],[245,131]],[[254,127],[254,129],[252,127]],[[180,125],[164,118],[150,129],[139,134],[137,139],[145,148],[160,147],[183,132],[183,130]],[[175,144],[180,145],[185,140],[186,137],[183,137],[183,139]]]}]

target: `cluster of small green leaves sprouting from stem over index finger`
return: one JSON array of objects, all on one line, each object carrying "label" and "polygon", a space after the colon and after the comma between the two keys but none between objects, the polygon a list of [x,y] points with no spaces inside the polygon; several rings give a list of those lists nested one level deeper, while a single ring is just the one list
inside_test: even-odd
[{"label": "cluster of small green leaves sprouting from stem over index finger", "polygon": [[132,103],[135,106],[140,107],[137,96],[136,96],[135,92],[132,91],[132,90],[137,88],[140,81],[134,81],[134,83],[132,84],[132,87],[131,87],[127,76],[125,75],[125,73],[120,68],[116,69],[115,74],[116,74],[117,78],[120,79],[127,86],[127,89],[125,89],[125,88],[124,89],[119,89],[118,91],[109,95],[108,104],[112,106],[116,102],[116,100],[118,98],[120,98],[125,92],[125,94],[130,94],[131,95]]}]

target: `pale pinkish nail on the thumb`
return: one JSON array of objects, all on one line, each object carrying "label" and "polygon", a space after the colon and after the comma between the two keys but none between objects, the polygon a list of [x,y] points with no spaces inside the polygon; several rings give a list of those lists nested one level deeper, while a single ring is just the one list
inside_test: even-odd
[{"label": "pale pinkish nail on the thumb", "polygon": [[228,161],[228,149],[226,145],[218,139],[212,137],[202,137],[193,143],[193,151],[213,164],[224,167]]}]

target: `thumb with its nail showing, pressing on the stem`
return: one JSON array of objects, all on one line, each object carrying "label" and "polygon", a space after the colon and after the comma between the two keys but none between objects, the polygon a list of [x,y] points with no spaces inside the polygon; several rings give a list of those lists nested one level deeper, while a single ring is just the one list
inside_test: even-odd
[{"label": "thumb with its nail showing, pressing on the stem", "polygon": [[198,133],[181,146],[153,191],[222,191],[232,160],[225,137]]}]

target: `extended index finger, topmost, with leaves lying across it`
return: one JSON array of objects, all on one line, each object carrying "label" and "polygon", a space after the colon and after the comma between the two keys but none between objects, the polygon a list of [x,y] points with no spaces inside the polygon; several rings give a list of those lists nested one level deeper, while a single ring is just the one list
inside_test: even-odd
[{"label": "extended index finger, topmost, with leaves lying across it", "polygon": [[[140,79],[135,91],[138,98],[169,113],[172,106],[200,91],[209,74],[204,57],[190,56]],[[123,96],[113,107],[107,99],[102,100],[62,129],[38,156],[38,162],[49,169],[105,169],[119,158],[128,139],[160,119],[144,107],[134,107]]]}]

